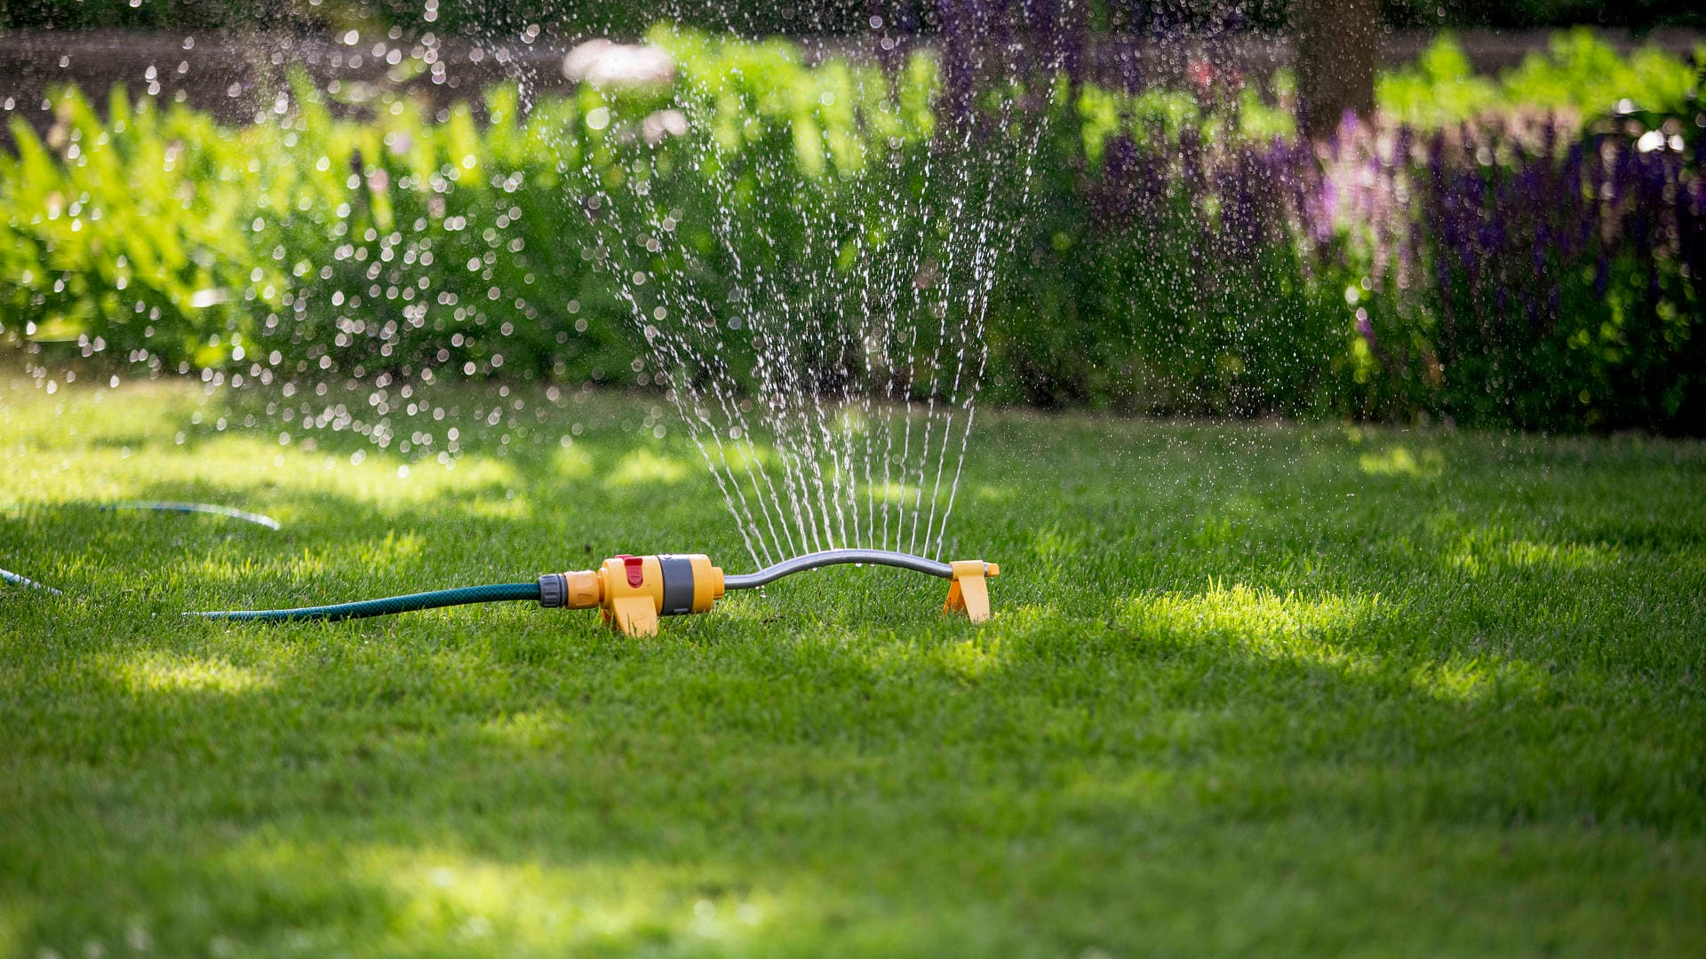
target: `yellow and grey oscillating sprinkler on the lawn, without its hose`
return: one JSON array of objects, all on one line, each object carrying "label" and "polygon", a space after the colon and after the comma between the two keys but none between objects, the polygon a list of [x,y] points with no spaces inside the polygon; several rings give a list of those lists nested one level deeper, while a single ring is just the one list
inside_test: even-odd
[{"label": "yellow and grey oscillating sprinkler on the lawn, without its hose", "polygon": [[950,580],[943,613],[964,611],[972,623],[989,618],[988,578],[1001,573],[995,563],[962,560],[938,563],[887,549],[827,549],[785,560],[749,575],[725,577],[703,553],[611,556],[597,570],[539,577],[539,604],[604,611],[604,621],[626,636],[657,635],[660,616],[706,613],[728,589],[754,589],[785,575],[838,563],[899,567]]}]

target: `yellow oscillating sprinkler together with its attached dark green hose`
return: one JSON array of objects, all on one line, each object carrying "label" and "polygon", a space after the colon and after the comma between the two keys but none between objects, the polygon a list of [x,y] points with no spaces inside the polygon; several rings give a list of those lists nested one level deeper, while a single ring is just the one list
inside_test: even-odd
[{"label": "yellow oscillating sprinkler together with its attached dark green hose", "polygon": [[239,619],[281,623],[292,619],[357,619],[362,616],[387,616],[413,609],[462,606],[469,602],[537,601],[539,606],[558,609],[602,609],[604,621],[626,636],[653,636],[660,616],[686,616],[710,613],[711,606],[732,589],[756,589],[781,577],[860,563],[897,567],[949,580],[949,597],[943,613],[966,613],[972,623],[989,618],[989,577],[1001,568],[983,560],[938,563],[911,553],[889,549],[826,549],[783,560],[773,567],[747,575],[723,575],[720,567],[703,553],[659,553],[655,556],[618,555],[595,570],[546,573],[539,582],[474,585],[416,592],[389,599],[343,602],[338,606],[310,606],[304,609],[256,609],[227,613],[189,613],[210,619]]}]

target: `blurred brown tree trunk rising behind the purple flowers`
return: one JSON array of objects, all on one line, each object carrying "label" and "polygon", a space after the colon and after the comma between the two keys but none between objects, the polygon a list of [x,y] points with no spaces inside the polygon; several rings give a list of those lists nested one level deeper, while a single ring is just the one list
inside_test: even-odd
[{"label": "blurred brown tree trunk rising behind the purple flowers", "polygon": [[1297,0],[1298,130],[1310,140],[1332,137],[1344,111],[1375,109],[1377,0]]}]

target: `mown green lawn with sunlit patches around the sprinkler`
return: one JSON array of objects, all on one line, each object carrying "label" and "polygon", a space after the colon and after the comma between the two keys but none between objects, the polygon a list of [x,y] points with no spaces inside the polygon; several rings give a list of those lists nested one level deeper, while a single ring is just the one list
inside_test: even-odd
[{"label": "mown green lawn with sunlit patches around the sprinkler", "polygon": [[[67,590],[0,587],[0,956],[1706,937],[1703,444],[993,415],[949,549],[1001,563],[993,623],[838,568],[626,640],[176,614],[744,570],[655,398],[408,476],[227,403],[0,381],[0,567]],[[53,507],[125,497],[285,526]]]}]

